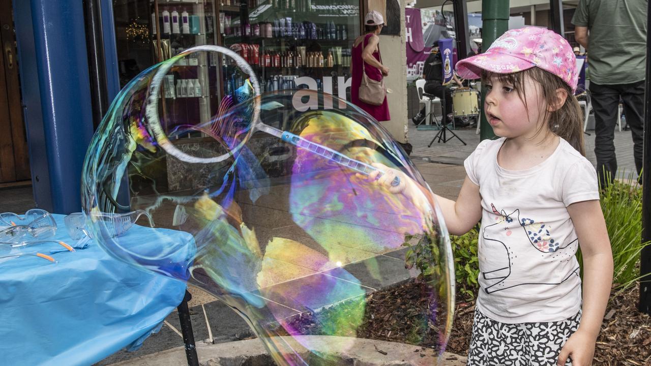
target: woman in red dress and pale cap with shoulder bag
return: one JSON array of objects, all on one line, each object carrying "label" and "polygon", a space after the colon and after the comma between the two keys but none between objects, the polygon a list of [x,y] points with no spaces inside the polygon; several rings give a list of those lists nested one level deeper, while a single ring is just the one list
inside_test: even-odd
[{"label": "woman in red dress and pale cap with shoulder bag", "polygon": [[[355,106],[367,111],[376,120],[389,120],[389,104],[387,98],[380,106],[366,104],[359,100],[359,85],[362,83],[362,66],[366,68],[367,76],[376,81],[380,81],[383,76],[389,75],[389,68],[383,66],[380,62],[380,31],[384,25],[382,14],[371,10],[365,18],[365,27],[367,33],[355,39],[352,51],[352,64],[350,74],[353,77],[350,87],[350,99]],[[364,65],[365,63],[365,65]]]}]

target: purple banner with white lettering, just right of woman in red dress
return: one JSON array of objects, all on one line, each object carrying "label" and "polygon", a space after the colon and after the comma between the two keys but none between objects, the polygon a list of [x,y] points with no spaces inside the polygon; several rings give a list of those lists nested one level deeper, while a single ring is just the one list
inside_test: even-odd
[{"label": "purple banner with white lettering, just right of woman in red dress", "polygon": [[425,47],[424,44],[424,39],[422,37],[421,9],[406,8],[405,20],[405,36],[407,40],[407,79],[413,80],[421,76],[422,68],[428,55],[430,55],[432,45]]}]

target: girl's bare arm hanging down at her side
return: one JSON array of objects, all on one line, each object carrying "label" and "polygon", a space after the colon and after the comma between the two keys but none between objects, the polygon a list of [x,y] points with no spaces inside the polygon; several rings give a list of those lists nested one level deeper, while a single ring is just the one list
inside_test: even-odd
[{"label": "girl's bare arm hanging down at her side", "polygon": [[602,327],[613,283],[613,252],[599,201],[570,204],[568,213],[579,237],[583,254],[583,314],[579,329],[559,355],[559,365],[572,356],[572,365],[590,365],[594,345]]}]

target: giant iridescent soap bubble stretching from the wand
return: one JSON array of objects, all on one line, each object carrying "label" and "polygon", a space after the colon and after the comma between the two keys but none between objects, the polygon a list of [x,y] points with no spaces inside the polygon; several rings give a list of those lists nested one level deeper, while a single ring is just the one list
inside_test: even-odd
[{"label": "giant iridescent soap bubble stretching from the wand", "polygon": [[[126,85],[86,156],[85,230],[132,266],[214,294],[278,365],[334,365],[365,337],[442,354],[454,273],[421,174],[357,107],[261,93],[256,71],[199,46]],[[199,81],[192,98],[175,90],[184,79]],[[406,280],[417,301],[374,298]]]}]

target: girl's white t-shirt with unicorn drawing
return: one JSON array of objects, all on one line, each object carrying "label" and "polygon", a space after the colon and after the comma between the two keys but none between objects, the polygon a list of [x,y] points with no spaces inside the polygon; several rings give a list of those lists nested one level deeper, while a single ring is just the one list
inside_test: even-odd
[{"label": "girl's white t-shirt with unicorn drawing", "polygon": [[510,324],[573,317],[581,278],[567,206],[599,199],[596,171],[562,138],[544,162],[508,171],[497,164],[504,142],[484,140],[464,162],[482,197],[477,308]]}]

